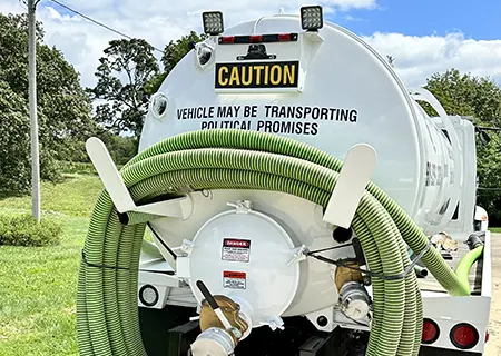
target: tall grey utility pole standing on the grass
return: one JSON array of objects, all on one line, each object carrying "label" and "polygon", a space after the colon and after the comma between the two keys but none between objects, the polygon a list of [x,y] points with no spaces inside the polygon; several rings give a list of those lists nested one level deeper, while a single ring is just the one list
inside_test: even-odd
[{"label": "tall grey utility pole standing on the grass", "polygon": [[32,214],[40,221],[40,154],[37,118],[37,37],[35,11],[40,0],[28,0],[29,21],[29,103],[31,120],[31,196]]}]

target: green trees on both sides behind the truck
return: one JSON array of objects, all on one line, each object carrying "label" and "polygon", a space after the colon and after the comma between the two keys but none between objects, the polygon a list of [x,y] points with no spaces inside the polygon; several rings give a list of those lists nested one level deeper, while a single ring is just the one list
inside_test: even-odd
[{"label": "green trees on both sides behind the truck", "polygon": [[[56,47],[43,43],[37,23],[37,80],[42,179],[60,178],[58,162],[89,161],[85,141],[99,137],[118,165],[137,152],[149,97],[158,90],[190,42],[205,39],[194,31],[165,46],[160,62],[143,39],[109,42],[99,59],[94,88],[80,85],[79,73]],[[30,191],[28,108],[28,21],[26,14],[0,13],[0,192]],[[489,77],[450,69],[426,79],[450,115],[471,116],[475,125],[501,127],[501,88]],[[92,101],[102,102],[92,110]],[[429,115],[435,115],[423,103]],[[128,132],[128,135],[120,135]],[[478,204],[501,222],[501,146],[478,141]]]}]

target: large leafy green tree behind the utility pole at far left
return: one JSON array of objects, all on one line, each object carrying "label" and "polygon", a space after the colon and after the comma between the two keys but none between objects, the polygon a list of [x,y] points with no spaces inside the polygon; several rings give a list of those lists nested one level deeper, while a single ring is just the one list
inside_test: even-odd
[{"label": "large leafy green tree behind the utility pole at far left", "polygon": [[[31,166],[28,116],[28,21],[26,14],[0,14],[0,108],[2,121],[2,190],[26,192]],[[90,136],[96,123],[91,102],[79,82],[79,75],[57,48],[42,42],[43,29],[37,23],[37,96],[42,179],[57,179],[56,159]],[[28,125],[28,126],[27,126]],[[7,144],[11,142],[11,144]],[[13,145],[12,142],[16,142]],[[7,165],[7,164],[6,164]],[[9,168],[7,168],[9,167]]]}]

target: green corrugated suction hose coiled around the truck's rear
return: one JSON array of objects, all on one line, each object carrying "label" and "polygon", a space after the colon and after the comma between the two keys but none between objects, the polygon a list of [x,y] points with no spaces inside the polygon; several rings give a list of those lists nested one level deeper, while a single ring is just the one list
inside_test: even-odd
[{"label": "green corrugated suction hose coiled around the truck's rear", "polygon": [[[257,131],[193,131],[140,152],[121,170],[136,202],[191,189],[282,191],[326,207],[342,161],[294,139]],[[132,214],[120,222],[105,190],[94,209],[79,271],[77,327],[82,356],[146,355],[138,320],[139,254],[146,227]],[[127,224],[122,224],[127,222]],[[469,295],[426,236],[387,195],[370,182],[353,220],[370,269],[401,275],[411,260],[405,243],[452,295]],[[411,271],[413,269],[411,268]],[[422,305],[414,273],[373,277],[374,318],[367,355],[418,355]]]}]

